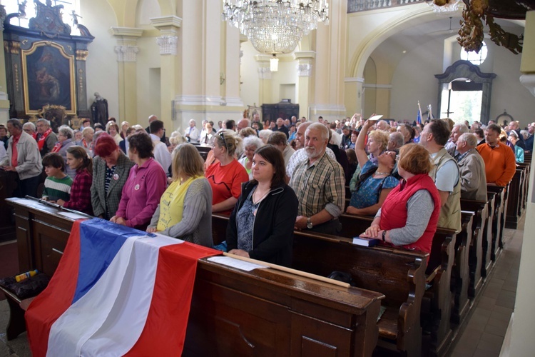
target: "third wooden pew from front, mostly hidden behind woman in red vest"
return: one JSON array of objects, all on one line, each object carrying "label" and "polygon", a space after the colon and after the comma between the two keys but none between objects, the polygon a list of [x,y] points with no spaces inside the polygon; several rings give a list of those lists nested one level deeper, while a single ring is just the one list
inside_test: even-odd
[{"label": "third wooden pew from front, mostly hidden behind woman in red vest", "polygon": [[[373,217],[342,214],[340,236],[352,238],[370,226]],[[433,238],[427,263],[427,282],[432,284],[422,299],[422,327],[430,333],[431,353],[442,356],[452,341],[450,318],[452,312],[451,276],[454,263],[456,232],[439,228]],[[425,323],[424,323],[425,322]]]}]

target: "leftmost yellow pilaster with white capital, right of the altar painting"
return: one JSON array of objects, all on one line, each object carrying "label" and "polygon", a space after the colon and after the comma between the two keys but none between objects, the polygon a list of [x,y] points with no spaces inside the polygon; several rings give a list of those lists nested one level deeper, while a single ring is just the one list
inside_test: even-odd
[{"label": "leftmost yellow pilaster with white capital, right of the altar painting", "polygon": [[137,40],[143,34],[142,29],[132,27],[112,27],[110,33],[116,37],[119,89],[119,118],[121,121],[137,122],[137,76],[136,61],[138,54]]}]

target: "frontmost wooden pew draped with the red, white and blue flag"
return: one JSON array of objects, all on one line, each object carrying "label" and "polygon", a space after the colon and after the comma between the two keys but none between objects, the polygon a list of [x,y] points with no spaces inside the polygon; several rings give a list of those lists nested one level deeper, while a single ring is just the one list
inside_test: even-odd
[{"label": "frontmost wooden pew draped with the red, white and blue flag", "polygon": [[[73,219],[10,201],[19,268],[52,275]],[[384,295],[274,269],[198,261],[183,356],[372,356]],[[11,316],[13,317],[13,316]],[[20,317],[20,316],[19,316]],[[24,326],[24,321],[22,321]]]}]

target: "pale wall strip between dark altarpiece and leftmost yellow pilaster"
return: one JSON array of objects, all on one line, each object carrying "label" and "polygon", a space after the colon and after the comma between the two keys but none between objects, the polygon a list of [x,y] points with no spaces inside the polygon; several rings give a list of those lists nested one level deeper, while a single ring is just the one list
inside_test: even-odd
[{"label": "pale wall strip between dark altarpiece and leftmost yellow pilaster", "polygon": [[108,32],[110,27],[117,26],[113,9],[106,0],[81,1],[80,13],[83,16],[83,19],[79,20],[80,24],[87,26],[95,36],[88,46],[89,55],[86,61],[88,106],[93,104],[93,94],[97,91],[108,99],[109,116],[118,118],[118,66],[117,54],[114,51],[116,39]]}]

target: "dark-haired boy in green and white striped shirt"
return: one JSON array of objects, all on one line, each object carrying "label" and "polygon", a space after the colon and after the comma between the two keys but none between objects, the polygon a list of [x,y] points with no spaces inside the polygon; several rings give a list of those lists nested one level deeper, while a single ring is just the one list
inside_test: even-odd
[{"label": "dark-haired boy in green and white striped shirt", "polygon": [[42,198],[45,201],[68,201],[73,180],[65,172],[65,161],[60,154],[49,153],[43,158],[46,180]]}]

